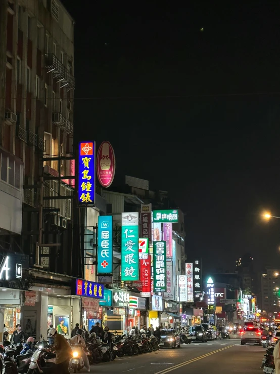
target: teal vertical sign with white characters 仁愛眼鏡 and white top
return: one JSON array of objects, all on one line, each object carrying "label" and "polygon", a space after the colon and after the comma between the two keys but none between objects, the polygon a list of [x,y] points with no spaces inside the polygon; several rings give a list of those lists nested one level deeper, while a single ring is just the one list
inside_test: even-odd
[{"label": "teal vertical sign with white characters \u4ec1\u611b\u773c\u93e1 and white top", "polygon": [[138,213],[122,213],[121,280],[139,279]]}]

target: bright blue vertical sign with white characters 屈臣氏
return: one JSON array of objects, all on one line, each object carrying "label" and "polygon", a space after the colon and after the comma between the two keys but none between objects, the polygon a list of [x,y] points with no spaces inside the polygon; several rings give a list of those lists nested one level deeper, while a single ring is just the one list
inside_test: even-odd
[{"label": "bright blue vertical sign with white characters \u5c48\u81e3\u6c0f", "polygon": [[110,274],[113,271],[113,217],[98,217],[98,274]]}]

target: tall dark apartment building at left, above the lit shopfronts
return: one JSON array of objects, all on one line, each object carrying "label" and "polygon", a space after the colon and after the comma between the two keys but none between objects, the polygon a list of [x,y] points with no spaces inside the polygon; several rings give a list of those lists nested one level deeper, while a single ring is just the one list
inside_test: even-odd
[{"label": "tall dark apartment building at left, above the lit shopfronts", "polygon": [[62,274],[73,231],[73,28],[58,0],[1,2],[0,244]]}]

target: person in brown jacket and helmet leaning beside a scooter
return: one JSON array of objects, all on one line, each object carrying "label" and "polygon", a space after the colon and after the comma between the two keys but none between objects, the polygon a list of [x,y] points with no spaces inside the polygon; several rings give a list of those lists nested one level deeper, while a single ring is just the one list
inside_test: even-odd
[{"label": "person in brown jacket and helmet leaning beside a scooter", "polygon": [[51,328],[49,337],[54,338],[55,345],[48,348],[48,352],[56,351],[57,356],[57,372],[60,374],[69,374],[69,361],[72,357],[72,349],[63,335],[58,334],[56,328]]}]

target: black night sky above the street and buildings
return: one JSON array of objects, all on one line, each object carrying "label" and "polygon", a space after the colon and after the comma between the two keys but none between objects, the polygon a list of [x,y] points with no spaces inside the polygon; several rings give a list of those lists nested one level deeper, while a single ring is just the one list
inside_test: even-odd
[{"label": "black night sky above the street and buildings", "polygon": [[76,140],[111,142],[116,182],[170,192],[205,270],[280,265],[280,220],[259,219],[280,216],[280,3],[64,3]]}]

